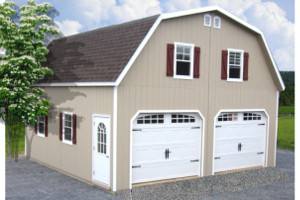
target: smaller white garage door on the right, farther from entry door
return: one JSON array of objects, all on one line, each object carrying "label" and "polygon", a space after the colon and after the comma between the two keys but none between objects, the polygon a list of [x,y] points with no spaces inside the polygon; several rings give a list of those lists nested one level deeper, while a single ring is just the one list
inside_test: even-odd
[{"label": "smaller white garage door on the right, farther from entry door", "polygon": [[264,166],[266,133],[262,112],[221,113],[215,124],[214,172]]}]

